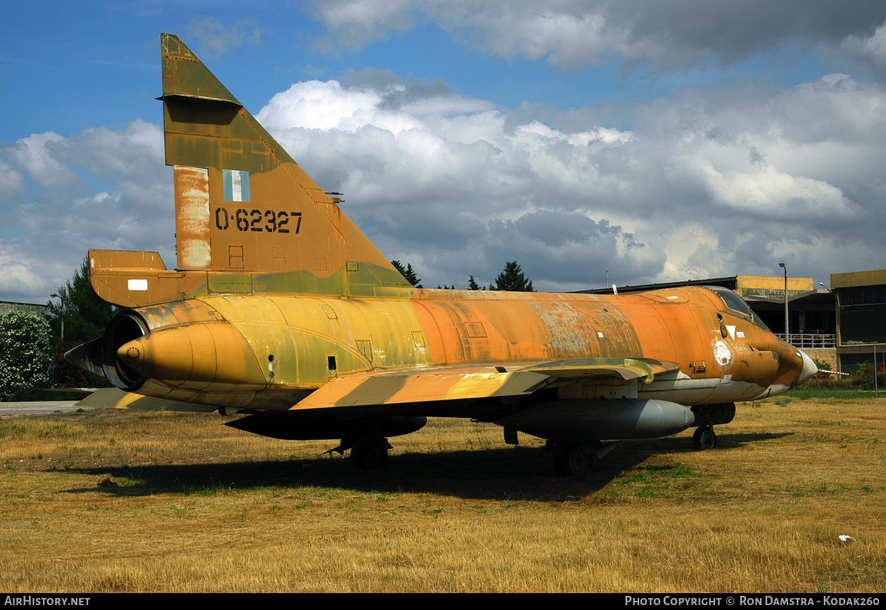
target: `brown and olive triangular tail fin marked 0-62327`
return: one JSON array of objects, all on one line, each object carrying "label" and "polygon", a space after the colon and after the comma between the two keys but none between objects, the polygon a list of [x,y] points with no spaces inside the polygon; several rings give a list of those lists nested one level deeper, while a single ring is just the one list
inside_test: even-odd
[{"label": "brown and olive triangular tail fin marked 0-62327", "polygon": [[111,253],[92,251],[100,296],[133,307],[206,293],[370,296],[409,287],[342,213],[341,199],[323,192],[177,36],[160,41],[178,269],[123,271]]}]

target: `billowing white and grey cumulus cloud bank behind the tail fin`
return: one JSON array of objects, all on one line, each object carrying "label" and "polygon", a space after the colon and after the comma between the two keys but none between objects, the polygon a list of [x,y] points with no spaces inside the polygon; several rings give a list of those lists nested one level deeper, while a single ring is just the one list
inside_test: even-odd
[{"label": "billowing white and grey cumulus cloud bank behind the tail fin", "polygon": [[[735,273],[827,280],[886,259],[886,92],[845,74],[738,82],[551,111],[391,74],[297,82],[260,119],[425,285],[488,284],[517,260],[541,290]],[[0,148],[0,299],[54,290],[89,247],[175,265],[162,129],[47,132]],[[873,265],[876,266],[876,263]],[[47,287],[49,286],[49,287]],[[4,297],[5,295],[5,297]]]}]

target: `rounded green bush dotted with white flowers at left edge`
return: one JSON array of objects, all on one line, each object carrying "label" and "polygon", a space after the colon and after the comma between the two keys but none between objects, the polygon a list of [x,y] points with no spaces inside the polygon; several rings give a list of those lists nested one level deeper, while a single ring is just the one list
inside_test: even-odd
[{"label": "rounded green bush dotted with white flowers at left edge", "polygon": [[50,325],[20,311],[0,316],[0,400],[51,387]]}]

